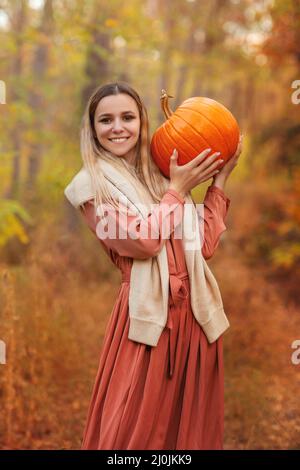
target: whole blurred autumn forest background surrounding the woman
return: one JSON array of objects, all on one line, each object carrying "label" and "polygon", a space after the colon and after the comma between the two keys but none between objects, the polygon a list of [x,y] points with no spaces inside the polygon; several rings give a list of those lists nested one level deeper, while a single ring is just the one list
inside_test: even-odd
[{"label": "whole blurred autumn forest background surrounding the woman", "polygon": [[162,88],[239,122],[209,260],[231,323],[225,448],[299,449],[299,2],[0,0],[0,44],[0,448],[80,447],[120,273],[63,191],[90,93],[125,80],[151,134]]}]

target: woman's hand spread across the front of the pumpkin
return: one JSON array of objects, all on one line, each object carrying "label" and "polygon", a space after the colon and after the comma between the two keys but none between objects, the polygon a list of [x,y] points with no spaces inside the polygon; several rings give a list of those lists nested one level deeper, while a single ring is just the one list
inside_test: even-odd
[{"label": "woman's hand spread across the front of the pumpkin", "polygon": [[185,165],[177,165],[178,152],[174,149],[170,159],[169,189],[174,189],[182,197],[185,197],[195,186],[216,175],[223,160],[218,158],[220,152],[215,152],[207,157],[210,152],[211,149],[205,149]]}]

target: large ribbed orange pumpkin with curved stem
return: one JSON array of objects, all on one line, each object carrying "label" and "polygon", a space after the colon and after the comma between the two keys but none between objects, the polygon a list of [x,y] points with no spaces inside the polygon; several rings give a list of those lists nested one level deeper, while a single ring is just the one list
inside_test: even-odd
[{"label": "large ribbed orange pumpkin with curved stem", "polygon": [[215,100],[198,96],[185,100],[172,112],[168,98],[172,97],[162,90],[160,100],[166,121],[151,139],[151,154],[161,172],[170,177],[174,148],[178,150],[178,165],[188,163],[207,148],[212,149],[209,155],[221,152],[218,159],[224,160],[222,168],[234,155],[240,136],[231,112]]}]

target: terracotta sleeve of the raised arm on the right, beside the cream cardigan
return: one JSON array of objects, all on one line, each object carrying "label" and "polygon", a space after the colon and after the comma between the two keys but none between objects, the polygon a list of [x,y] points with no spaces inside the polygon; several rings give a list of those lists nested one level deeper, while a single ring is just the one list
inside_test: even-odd
[{"label": "terracotta sleeve of the raised arm on the right, beside the cream cardigan", "polygon": [[226,230],[224,223],[230,205],[230,199],[222,189],[209,186],[203,201],[204,204],[204,241],[202,254],[209,259],[218,247],[220,236]]}]

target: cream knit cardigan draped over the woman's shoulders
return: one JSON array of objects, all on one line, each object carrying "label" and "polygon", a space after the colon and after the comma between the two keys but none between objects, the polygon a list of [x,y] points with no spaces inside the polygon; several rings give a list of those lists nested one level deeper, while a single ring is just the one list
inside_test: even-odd
[{"label": "cream knit cardigan draped over the woman's shoulders", "polygon": [[[146,197],[141,201],[133,185],[109,162],[98,160],[97,163],[104,172],[112,196],[133,214],[147,218],[153,201],[149,198],[146,200]],[[76,209],[94,197],[91,178],[85,167],[74,176],[64,193]],[[182,235],[191,288],[191,307],[208,341],[212,343],[227,330],[229,322],[217,281],[202,255],[198,215],[190,194],[185,201]],[[130,340],[157,345],[167,323],[168,296],[169,268],[164,244],[157,256],[133,259],[129,287]]]}]

